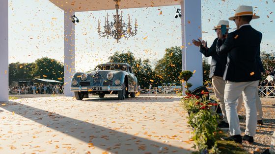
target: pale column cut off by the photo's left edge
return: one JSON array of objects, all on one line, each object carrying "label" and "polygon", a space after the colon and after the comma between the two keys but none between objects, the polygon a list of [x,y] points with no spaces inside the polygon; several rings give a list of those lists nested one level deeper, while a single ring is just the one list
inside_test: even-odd
[{"label": "pale column cut off by the photo's left edge", "polygon": [[0,102],[8,101],[8,0],[0,0]]}]

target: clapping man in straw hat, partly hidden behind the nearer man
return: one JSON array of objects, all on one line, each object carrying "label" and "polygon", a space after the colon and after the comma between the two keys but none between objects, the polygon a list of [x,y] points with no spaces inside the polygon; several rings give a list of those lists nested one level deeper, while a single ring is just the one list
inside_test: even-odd
[{"label": "clapping man in straw hat, partly hidden behind the nearer man", "polygon": [[[223,20],[220,21],[218,25],[214,27],[213,30],[216,31],[218,36],[219,32],[221,31],[221,25],[226,25],[226,33],[223,36],[223,41],[225,41],[226,36],[228,34],[228,30],[230,29],[228,21],[223,21]],[[227,54],[223,54],[223,55],[217,54],[216,52],[217,41],[218,41],[218,37],[214,40],[210,48],[207,47],[207,42],[201,41],[200,39],[198,39],[198,41],[192,40],[192,43],[196,46],[200,46],[199,51],[205,57],[210,57],[210,56],[212,57],[209,78],[212,78],[213,89],[215,91],[216,98],[220,102],[220,108],[223,116],[222,121],[218,125],[218,127],[220,129],[229,129],[229,124],[227,122],[226,112],[225,112],[225,104],[223,100],[225,81],[222,79],[222,76],[225,70],[225,65],[227,63]]]}]

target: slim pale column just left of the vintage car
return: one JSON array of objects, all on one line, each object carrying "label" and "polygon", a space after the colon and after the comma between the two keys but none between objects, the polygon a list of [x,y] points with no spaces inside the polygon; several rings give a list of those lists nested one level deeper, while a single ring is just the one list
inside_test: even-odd
[{"label": "slim pale column just left of the vintage car", "polygon": [[64,95],[73,96],[70,91],[72,75],[75,73],[75,24],[74,10],[64,10]]}]

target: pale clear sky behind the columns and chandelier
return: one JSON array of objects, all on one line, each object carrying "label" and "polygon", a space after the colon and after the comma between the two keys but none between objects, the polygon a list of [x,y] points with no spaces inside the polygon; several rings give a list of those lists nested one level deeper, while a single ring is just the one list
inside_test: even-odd
[{"label": "pale clear sky behind the columns and chandelier", "polygon": [[[275,0],[201,0],[202,39],[210,46],[217,37],[213,26],[228,20],[239,5],[253,6],[260,19],[250,23],[263,33],[261,51],[274,52]],[[97,34],[98,20],[102,28],[104,17],[109,13],[112,20],[115,10],[76,12],[80,20],[75,25],[76,70],[87,71],[106,63],[115,51],[131,51],[137,58],[149,59],[154,66],[166,48],[182,45],[181,21],[174,18],[177,8],[180,5],[122,9],[125,21],[128,14],[132,20],[137,19],[138,34],[119,43]],[[41,57],[63,62],[63,18],[63,10],[49,0],[9,0],[9,63],[31,63]],[[229,24],[236,27],[234,22]]]}]

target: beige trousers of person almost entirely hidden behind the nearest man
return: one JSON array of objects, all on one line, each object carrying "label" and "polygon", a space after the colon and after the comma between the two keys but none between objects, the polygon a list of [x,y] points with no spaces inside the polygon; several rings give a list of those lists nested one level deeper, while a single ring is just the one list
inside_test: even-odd
[{"label": "beige trousers of person almost entirely hidden behind the nearest man", "polygon": [[[262,110],[262,102],[258,94],[258,88],[256,88],[256,110],[257,110],[257,120],[262,120],[263,117],[263,110]],[[237,112],[240,113],[240,110],[242,109],[242,105],[244,103],[243,95],[241,95],[237,101]]]}]

